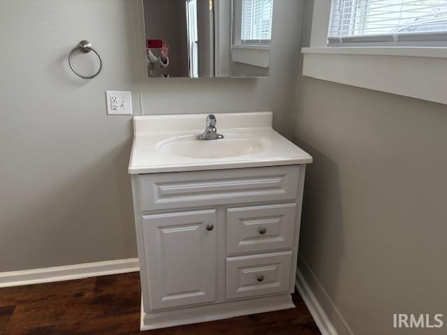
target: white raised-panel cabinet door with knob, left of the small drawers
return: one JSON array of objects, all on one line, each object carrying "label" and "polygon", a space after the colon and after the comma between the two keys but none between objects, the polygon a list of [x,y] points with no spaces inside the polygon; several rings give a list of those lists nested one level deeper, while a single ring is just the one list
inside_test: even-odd
[{"label": "white raised-panel cabinet door with knob, left of the small drawers", "polygon": [[216,299],[216,211],[143,216],[151,309]]}]

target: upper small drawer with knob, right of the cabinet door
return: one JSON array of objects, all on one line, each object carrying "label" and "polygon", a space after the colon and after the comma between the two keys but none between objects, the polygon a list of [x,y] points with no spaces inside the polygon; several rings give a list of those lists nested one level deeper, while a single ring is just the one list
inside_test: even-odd
[{"label": "upper small drawer with knob, right of the cabinet door", "polygon": [[228,254],[292,248],[296,203],[227,209]]}]

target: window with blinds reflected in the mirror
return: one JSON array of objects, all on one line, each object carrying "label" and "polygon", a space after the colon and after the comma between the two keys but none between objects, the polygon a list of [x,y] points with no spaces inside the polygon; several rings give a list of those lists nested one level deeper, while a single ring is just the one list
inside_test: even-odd
[{"label": "window with blinds reflected in the mirror", "polygon": [[241,43],[270,43],[273,0],[242,0]]}]

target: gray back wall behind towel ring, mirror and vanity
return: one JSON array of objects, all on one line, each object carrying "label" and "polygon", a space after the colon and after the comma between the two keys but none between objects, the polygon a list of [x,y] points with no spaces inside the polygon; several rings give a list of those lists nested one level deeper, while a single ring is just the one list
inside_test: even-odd
[{"label": "gray back wall behind towel ring, mirror and vanity", "polygon": [[[105,90],[132,91],[134,114],[272,110],[290,136],[300,3],[278,3],[270,78],[160,80],[147,78],[138,0],[1,1],[0,272],[136,256],[131,117],[105,114]],[[66,63],[83,38],[104,59],[94,80]]]}]

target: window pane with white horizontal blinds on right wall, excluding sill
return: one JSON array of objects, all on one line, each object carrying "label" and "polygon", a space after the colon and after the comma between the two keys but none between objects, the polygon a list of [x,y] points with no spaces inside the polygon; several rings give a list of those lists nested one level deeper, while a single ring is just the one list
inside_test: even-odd
[{"label": "window pane with white horizontal blinds on right wall, excluding sill", "polygon": [[328,45],[447,45],[447,0],[332,0]]}]

